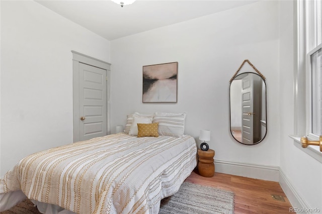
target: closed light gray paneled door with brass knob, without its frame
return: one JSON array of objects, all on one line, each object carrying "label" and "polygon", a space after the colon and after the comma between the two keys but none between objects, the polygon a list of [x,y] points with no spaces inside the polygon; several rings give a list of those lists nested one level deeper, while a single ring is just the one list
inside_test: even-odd
[{"label": "closed light gray paneled door with brass knob, without its frame", "polygon": [[[79,140],[107,135],[106,70],[79,63]],[[81,120],[81,117],[85,117]]]}]

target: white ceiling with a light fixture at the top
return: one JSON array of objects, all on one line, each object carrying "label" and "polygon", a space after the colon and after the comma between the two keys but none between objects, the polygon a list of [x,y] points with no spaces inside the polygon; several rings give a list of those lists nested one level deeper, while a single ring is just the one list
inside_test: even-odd
[{"label": "white ceiling with a light fixture at the top", "polygon": [[137,0],[121,8],[110,1],[36,1],[109,41],[252,4],[252,0]]}]

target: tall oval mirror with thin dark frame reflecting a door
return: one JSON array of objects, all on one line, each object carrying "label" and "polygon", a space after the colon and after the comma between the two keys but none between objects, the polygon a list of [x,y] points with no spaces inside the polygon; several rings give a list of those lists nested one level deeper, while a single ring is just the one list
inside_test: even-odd
[{"label": "tall oval mirror with thin dark frame reflecting a door", "polygon": [[254,145],[267,133],[266,83],[258,74],[236,75],[229,87],[230,132],[239,143]]}]

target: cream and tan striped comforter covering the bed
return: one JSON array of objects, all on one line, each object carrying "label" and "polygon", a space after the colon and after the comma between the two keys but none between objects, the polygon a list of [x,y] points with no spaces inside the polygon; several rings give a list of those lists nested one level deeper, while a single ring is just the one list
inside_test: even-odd
[{"label": "cream and tan striped comforter covering the bed", "polygon": [[137,138],[114,134],[23,158],[0,180],[0,193],[79,214],[157,213],[197,164],[191,136]]}]

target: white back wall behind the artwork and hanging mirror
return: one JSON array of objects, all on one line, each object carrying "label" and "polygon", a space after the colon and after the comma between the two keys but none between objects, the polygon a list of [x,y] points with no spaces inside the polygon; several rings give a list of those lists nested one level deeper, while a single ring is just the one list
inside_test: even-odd
[{"label": "white back wall behind the artwork and hanging mirror", "polygon": [[[185,134],[211,130],[216,160],[278,166],[278,22],[278,2],[261,1],[111,41],[111,130],[133,112],[186,112]],[[255,146],[229,131],[229,80],[245,59],[267,79],[268,133]],[[175,61],[178,103],[142,103],[142,66]]]}]

